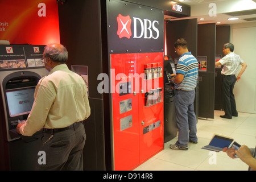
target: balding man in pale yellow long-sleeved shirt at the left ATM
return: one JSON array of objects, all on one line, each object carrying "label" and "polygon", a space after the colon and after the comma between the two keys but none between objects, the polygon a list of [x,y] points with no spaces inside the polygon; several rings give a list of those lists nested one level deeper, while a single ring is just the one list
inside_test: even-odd
[{"label": "balding man in pale yellow long-sleeved shirt at the left ATM", "polygon": [[[61,44],[44,48],[43,62],[49,75],[39,80],[34,104],[18,133],[31,136],[43,128],[41,151],[46,152],[46,164],[39,170],[82,170],[82,149],[85,130],[81,121],[90,115],[87,88],[81,76],[65,64],[67,49]],[[39,151],[40,151],[39,150]]]}]

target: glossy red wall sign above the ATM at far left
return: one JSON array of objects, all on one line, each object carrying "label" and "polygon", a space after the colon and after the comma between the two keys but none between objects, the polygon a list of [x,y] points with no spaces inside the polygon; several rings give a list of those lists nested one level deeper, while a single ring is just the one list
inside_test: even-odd
[{"label": "glossy red wall sign above the ATM at far left", "polygon": [[0,1],[0,40],[10,44],[60,43],[56,1]]}]

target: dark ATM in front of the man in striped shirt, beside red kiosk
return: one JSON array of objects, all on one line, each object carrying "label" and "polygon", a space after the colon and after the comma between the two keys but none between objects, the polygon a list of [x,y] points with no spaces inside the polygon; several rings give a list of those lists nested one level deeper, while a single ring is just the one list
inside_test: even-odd
[{"label": "dark ATM in front of the man in striped shirt, beside red kiosk", "polygon": [[171,56],[164,56],[164,142],[177,135],[174,84],[170,81],[171,75],[175,73],[175,63]]}]

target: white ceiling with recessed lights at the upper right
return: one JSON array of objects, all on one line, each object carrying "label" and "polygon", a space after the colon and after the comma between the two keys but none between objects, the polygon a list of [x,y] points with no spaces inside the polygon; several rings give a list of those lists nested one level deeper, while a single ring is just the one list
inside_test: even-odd
[{"label": "white ceiling with recessed lights at the upper right", "polygon": [[[179,0],[176,0],[179,2]],[[165,16],[167,20],[178,19],[191,19],[197,18],[199,24],[201,23],[217,23],[220,24],[234,24],[234,23],[246,23],[256,22],[256,0],[184,0],[185,5],[191,6],[191,16],[187,18],[175,18],[172,16]],[[210,3],[214,3],[216,15],[209,15],[209,11],[213,13],[213,6],[209,6]],[[239,15],[233,13],[239,12]],[[231,14],[232,13],[232,14]],[[237,20],[228,20],[228,18],[237,17]],[[204,20],[200,20],[204,18]],[[254,20],[245,20],[247,18],[254,18]]]}]

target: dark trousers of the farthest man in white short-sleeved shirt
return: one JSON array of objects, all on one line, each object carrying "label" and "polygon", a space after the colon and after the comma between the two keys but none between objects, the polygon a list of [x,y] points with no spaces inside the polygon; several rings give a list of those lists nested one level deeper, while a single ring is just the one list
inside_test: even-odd
[{"label": "dark trousers of the farthest man in white short-sleeved shirt", "polygon": [[236,84],[236,81],[237,79],[235,75],[222,76],[222,101],[225,116],[229,118],[232,118],[232,115],[238,115],[236,100],[233,94],[234,84]]}]

